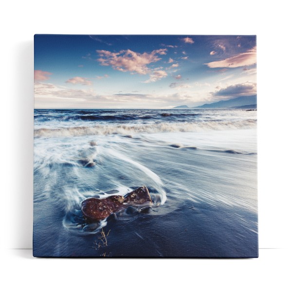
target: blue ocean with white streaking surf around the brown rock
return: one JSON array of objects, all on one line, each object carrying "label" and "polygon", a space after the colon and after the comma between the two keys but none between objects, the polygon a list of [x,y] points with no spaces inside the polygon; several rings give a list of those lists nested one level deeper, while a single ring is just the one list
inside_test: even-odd
[{"label": "blue ocean with white streaking surf around the brown rock", "polygon": [[[256,111],[35,110],[34,256],[257,257]],[[145,185],[153,206],[87,222]]]}]

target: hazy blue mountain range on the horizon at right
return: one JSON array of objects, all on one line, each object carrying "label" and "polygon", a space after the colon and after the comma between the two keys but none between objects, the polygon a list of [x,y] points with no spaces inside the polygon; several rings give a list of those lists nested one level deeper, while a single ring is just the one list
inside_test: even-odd
[{"label": "hazy blue mountain range on the horizon at right", "polygon": [[256,95],[239,96],[228,100],[220,100],[211,104],[204,104],[199,107],[178,106],[173,109],[255,109]]}]

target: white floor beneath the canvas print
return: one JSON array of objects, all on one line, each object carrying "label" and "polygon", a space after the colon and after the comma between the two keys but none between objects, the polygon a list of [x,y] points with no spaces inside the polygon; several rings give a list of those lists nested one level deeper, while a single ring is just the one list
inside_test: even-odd
[{"label": "white floor beneath the canvas print", "polygon": [[288,249],[260,249],[256,259],[62,259],[34,258],[31,249],[2,251],[2,291],[291,289]]}]

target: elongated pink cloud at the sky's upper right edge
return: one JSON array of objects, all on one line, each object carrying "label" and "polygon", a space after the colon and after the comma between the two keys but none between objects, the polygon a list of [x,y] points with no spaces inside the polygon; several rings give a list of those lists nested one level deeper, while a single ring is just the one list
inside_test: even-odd
[{"label": "elongated pink cloud at the sky's upper right edge", "polygon": [[250,66],[253,64],[256,64],[256,47],[246,51],[245,53],[241,53],[221,61],[206,63],[205,65],[210,68],[237,68],[242,66]]}]

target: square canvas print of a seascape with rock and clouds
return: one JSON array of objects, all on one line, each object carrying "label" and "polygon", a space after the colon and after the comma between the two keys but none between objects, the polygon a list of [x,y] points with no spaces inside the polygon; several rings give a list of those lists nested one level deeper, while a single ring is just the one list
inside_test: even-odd
[{"label": "square canvas print of a seascape with rock and clouds", "polygon": [[38,257],[257,257],[256,36],[36,35]]}]

